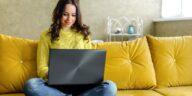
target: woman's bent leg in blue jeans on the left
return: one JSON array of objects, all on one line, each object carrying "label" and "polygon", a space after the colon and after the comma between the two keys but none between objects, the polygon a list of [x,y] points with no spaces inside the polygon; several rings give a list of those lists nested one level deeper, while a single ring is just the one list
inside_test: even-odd
[{"label": "woman's bent leg in blue jeans on the left", "polygon": [[32,78],[25,83],[24,93],[26,96],[68,96],[56,88],[45,84],[40,78]]}]

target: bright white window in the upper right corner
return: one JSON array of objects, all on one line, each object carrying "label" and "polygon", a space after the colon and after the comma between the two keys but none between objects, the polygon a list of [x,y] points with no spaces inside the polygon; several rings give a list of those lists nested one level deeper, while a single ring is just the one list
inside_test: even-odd
[{"label": "bright white window in the upper right corner", "polygon": [[163,18],[192,17],[192,0],[162,0]]}]

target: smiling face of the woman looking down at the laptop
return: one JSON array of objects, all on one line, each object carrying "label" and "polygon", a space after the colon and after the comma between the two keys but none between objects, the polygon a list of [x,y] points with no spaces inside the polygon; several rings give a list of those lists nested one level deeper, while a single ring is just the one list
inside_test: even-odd
[{"label": "smiling face of the woman looking down at the laptop", "polygon": [[72,4],[67,4],[63,16],[61,18],[61,24],[63,28],[71,28],[76,21],[76,7]]}]

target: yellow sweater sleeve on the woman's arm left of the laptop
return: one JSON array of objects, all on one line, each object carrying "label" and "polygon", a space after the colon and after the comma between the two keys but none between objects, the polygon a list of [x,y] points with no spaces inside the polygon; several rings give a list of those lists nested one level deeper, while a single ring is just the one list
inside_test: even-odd
[{"label": "yellow sweater sleeve on the woman's arm left of the laptop", "polygon": [[47,32],[41,34],[38,49],[37,49],[37,73],[42,79],[47,79],[46,74],[48,72],[48,59],[49,59],[49,38],[47,38]]}]

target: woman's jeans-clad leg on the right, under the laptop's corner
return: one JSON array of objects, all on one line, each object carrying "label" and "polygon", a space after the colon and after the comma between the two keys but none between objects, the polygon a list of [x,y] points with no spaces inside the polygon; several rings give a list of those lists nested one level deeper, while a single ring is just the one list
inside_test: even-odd
[{"label": "woman's jeans-clad leg on the right, under the laptop's corner", "polygon": [[80,94],[80,96],[116,96],[116,93],[117,93],[116,84],[108,80]]}]

